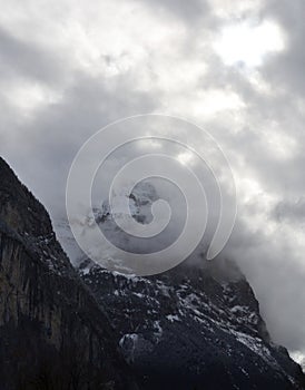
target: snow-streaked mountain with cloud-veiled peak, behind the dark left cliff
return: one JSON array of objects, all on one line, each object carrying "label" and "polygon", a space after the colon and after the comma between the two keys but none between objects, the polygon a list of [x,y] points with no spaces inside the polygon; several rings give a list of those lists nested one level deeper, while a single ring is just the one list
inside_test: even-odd
[{"label": "snow-streaked mountain with cloud-veiled peak, behind the dark left cliff", "polygon": [[[134,217],[149,222],[148,211],[157,198],[147,184],[136,188],[130,195]],[[120,209],[115,213],[125,218]],[[95,209],[95,218],[109,240],[125,240],[107,202]],[[73,240],[65,223],[59,232],[71,250]],[[132,237],[125,245],[132,250]],[[73,263],[107,310],[141,389],[305,388],[301,368],[270,340],[255,294],[234,262],[207,262],[197,251],[176,269],[149,277],[110,272],[81,252]]]}]

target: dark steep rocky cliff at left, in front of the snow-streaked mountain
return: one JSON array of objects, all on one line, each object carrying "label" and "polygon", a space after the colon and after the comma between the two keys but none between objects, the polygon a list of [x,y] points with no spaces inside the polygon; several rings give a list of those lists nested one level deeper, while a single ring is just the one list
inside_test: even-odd
[{"label": "dark steep rocky cliff at left, in front of the snow-streaked mountain", "polygon": [[107,314],[0,158],[0,389],[126,389]]}]

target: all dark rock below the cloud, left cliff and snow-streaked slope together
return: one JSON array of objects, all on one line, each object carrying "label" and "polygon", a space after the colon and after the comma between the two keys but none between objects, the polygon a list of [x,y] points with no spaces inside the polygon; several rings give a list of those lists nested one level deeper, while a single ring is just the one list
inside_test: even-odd
[{"label": "all dark rock below the cloud, left cliff and snow-streaked slope together", "polygon": [[87,261],[76,272],[0,158],[0,389],[304,389],[229,269],[134,277]]}]

